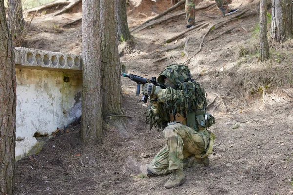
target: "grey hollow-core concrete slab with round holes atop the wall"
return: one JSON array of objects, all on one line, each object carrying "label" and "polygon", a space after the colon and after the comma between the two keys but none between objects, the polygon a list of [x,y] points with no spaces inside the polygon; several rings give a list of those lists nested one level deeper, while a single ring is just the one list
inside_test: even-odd
[{"label": "grey hollow-core concrete slab with round holes atop the wall", "polygon": [[50,69],[56,71],[81,71],[82,60],[79,55],[51,52],[24,47],[15,48],[15,65],[33,69]]}]

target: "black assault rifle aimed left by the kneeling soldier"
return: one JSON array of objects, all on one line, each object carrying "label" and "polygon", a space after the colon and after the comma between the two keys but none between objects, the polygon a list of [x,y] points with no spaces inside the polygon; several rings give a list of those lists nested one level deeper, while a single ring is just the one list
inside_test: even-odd
[{"label": "black assault rifle aimed left by the kneeling soldier", "polygon": [[[136,95],[137,96],[140,93],[140,85],[141,84],[152,83],[152,84],[154,84],[156,86],[161,87],[161,89],[165,89],[165,86],[164,85],[161,85],[161,84],[159,84],[157,82],[157,78],[156,77],[152,77],[151,80],[150,80],[150,79],[147,79],[147,78],[144,78],[144,77],[140,77],[138,75],[133,75],[131,73],[129,73],[128,75],[126,73],[121,73],[121,76],[130,78],[130,80],[132,80],[132,81],[134,81],[134,82],[137,83],[137,87],[136,87]],[[148,95],[143,95],[142,101],[144,103],[147,102],[147,99],[148,99]]]}]

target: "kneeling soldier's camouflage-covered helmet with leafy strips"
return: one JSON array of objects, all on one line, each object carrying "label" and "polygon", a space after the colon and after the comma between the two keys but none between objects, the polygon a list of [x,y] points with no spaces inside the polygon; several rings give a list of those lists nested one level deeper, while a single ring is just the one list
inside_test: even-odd
[{"label": "kneeling soldier's camouflage-covered helmet with leafy strips", "polygon": [[170,64],[159,73],[158,82],[163,84],[164,78],[170,79],[178,87],[180,83],[191,80],[192,76],[187,66],[183,64]]}]

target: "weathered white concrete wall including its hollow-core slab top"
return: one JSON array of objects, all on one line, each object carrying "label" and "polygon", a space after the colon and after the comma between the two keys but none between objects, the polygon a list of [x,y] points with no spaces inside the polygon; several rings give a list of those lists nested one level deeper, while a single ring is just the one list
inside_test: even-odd
[{"label": "weathered white concrete wall including its hollow-core slab top", "polygon": [[35,133],[51,135],[81,116],[82,75],[79,56],[71,54],[16,48],[15,61],[19,160],[41,150]]}]

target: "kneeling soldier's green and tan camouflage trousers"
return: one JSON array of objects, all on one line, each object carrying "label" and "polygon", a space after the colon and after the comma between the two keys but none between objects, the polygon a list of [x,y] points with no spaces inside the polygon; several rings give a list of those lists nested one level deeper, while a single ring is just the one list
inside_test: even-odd
[{"label": "kneeling soldier's green and tan camouflage trousers", "polygon": [[215,135],[205,128],[195,130],[179,122],[164,129],[167,145],[150,162],[147,169],[162,176],[174,169],[193,165],[194,158],[205,158],[212,153]]}]

